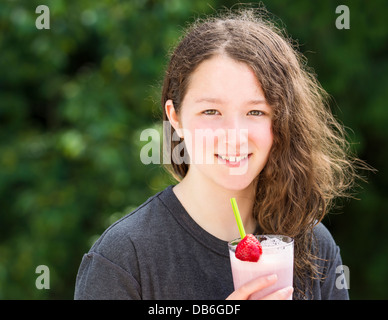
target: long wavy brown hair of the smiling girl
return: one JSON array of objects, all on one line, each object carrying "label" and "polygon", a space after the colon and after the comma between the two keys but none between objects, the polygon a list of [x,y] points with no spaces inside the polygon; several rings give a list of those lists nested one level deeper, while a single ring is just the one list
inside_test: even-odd
[{"label": "long wavy brown hair of the smiling girl", "polygon": [[[328,95],[305,58],[265,10],[243,9],[195,22],[173,51],[162,91],[162,106],[179,113],[190,75],[206,59],[224,54],[249,65],[274,111],[273,146],[257,177],[253,215],[263,233],[295,239],[295,280],[302,286],[318,276],[312,228],[336,197],[348,195],[356,177],[343,127],[328,106]],[[164,113],[164,120],[167,116]],[[172,129],[174,130],[174,129]],[[171,150],[179,142],[171,141]],[[188,164],[171,172],[179,180]]]}]

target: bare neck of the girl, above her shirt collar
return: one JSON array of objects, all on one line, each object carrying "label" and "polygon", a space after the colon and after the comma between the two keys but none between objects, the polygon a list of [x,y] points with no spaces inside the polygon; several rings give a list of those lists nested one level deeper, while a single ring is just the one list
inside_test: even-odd
[{"label": "bare neck of the girl, above her shirt collar", "polygon": [[198,175],[187,175],[173,189],[188,214],[213,236],[230,241],[240,237],[230,198],[236,198],[246,233],[253,233],[256,221],[252,216],[255,187],[244,190],[226,189]]}]

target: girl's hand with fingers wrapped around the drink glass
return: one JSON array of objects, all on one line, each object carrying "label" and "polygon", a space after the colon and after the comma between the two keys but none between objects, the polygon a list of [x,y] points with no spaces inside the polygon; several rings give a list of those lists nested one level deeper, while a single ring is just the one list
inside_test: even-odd
[{"label": "girl's hand with fingers wrapped around the drink glass", "polygon": [[[251,294],[273,285],[277,281],[277,275],[256,278],[234,291],[226,300],[249,300]],[[286,300],[294,291],[293,287],[285,287],[275,291],[261,300]]]}]

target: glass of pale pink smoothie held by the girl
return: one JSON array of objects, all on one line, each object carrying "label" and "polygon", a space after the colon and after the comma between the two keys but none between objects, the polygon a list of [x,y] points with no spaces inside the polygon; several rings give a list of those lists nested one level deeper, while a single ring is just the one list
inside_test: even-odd
[{"label": "glass of pale pink smoothie held by the girl", "polygon": [[233,273],[234,288],[238,289],[246,282],[257,277],[277,274],[277,282],[251,296],[258,300],[279,289],[292,286],[294,265],[294,241],[286,236],[257,236],[263,253],[259,261],[241,261],[235,256],[235,249],[240,239],[229,243],[230,262]]}]

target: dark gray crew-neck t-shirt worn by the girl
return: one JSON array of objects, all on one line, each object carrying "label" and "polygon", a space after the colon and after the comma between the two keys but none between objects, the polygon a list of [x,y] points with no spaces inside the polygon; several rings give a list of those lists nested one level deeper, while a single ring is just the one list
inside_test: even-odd
[{"label": "dark gray crew-neck t-shirt worn by the girl", "polygon": [[[335,285],[338,246],[322,224],[314,233],[325,279],[314,280],[307,298],[348,299]],[[233,290],[227,242],[203,230],[170,186],[101,235],[82,259],[74,297],[214,300]]]}]

